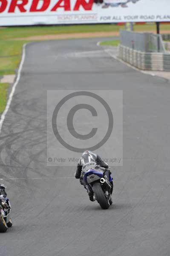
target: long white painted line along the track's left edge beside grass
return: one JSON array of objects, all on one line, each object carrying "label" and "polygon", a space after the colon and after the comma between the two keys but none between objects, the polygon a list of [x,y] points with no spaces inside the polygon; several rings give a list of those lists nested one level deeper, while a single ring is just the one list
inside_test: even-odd
[{"label": "long white painted line along the track's left edge beside grass", "polygon": [[20,81],[20,74],[21,74],[21,70],[22,70],[22,67],[23,67],[24,60],[25,60],[25,56],[26,56],[26,44],[23,44],[22,58],[21,58],[21,61],[20,61],[20,66],[19,66],[18,72],[17,72],[17,79],[16,79],[16,81],[14,82],[14,84],[12,86],[12,90],[11,90],[11,93],[9,94],[9,99],[7,101],[7,104],[6,104],[6,108],[5,108],[5,110],[3,111],[3,113],[0,117],[0,132],[1,132],[1,129],[2,129],[3,122],[4,122],[4,119],[6,117],[6,114],[9,111],[16,86],[17,86],[18,82]]}]

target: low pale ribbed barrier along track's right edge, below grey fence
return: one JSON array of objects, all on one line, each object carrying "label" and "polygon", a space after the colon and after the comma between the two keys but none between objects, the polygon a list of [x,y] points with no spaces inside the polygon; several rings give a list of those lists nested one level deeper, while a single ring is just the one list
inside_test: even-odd
[{"label": "low pale ribbed barrier along track's right edge, below grey fence", "polygon": [[119,45],[118,58],[141,70],[170,71],[170,54],[167,52],[140,52]]}]

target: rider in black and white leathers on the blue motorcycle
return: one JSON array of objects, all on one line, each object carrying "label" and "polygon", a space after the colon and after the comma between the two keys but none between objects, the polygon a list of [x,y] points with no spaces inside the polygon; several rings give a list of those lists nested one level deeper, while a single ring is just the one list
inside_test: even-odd
[{"label": "rider in black and white leathers on the blue motorcycle", "polygon": [[[84,185],[84,188],[87,190],[90,201],[95,201],[94,193],[92,191],[91,186],[84,184],[83,177],[81,176],[82,166],[86,163],[95,162],[96,168],[102,167],[104,168],[104,178],[109,182],[109,166],[105,163],[98,154],[94,154],[89,150],[83,152],[82,157],[78,161],[77,169],[75,172],[75,178],[80,179],[81,185]],[[110,183],[112,186],[112,182]]]}]

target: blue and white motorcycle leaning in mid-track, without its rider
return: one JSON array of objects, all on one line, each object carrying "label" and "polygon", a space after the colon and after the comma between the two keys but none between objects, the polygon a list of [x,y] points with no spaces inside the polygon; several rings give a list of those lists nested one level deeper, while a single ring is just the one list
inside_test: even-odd
[{"label": "blue and white motorcycle leaning in mid-track, without its rider", "polygon": [[[109,182],[104,178],[105,169],[96,166],[96,163],[87,163],[82,168],[84,184],[89,185],[94,192],[95,200],[102,209],[108,209],[112,205],[112,176],[109,174]],[[111,186],[110,186],[111,184]]]}]

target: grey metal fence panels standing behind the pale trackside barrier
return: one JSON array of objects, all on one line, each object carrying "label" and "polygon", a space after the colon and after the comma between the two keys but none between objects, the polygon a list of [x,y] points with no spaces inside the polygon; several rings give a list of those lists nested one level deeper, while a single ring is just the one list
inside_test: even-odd
[{"label": "grey metal fence panels standing behind the pale trackside barrier", "polygon": [[161,35],[120,31],[121,45],[141,52],[165,52]]}]

